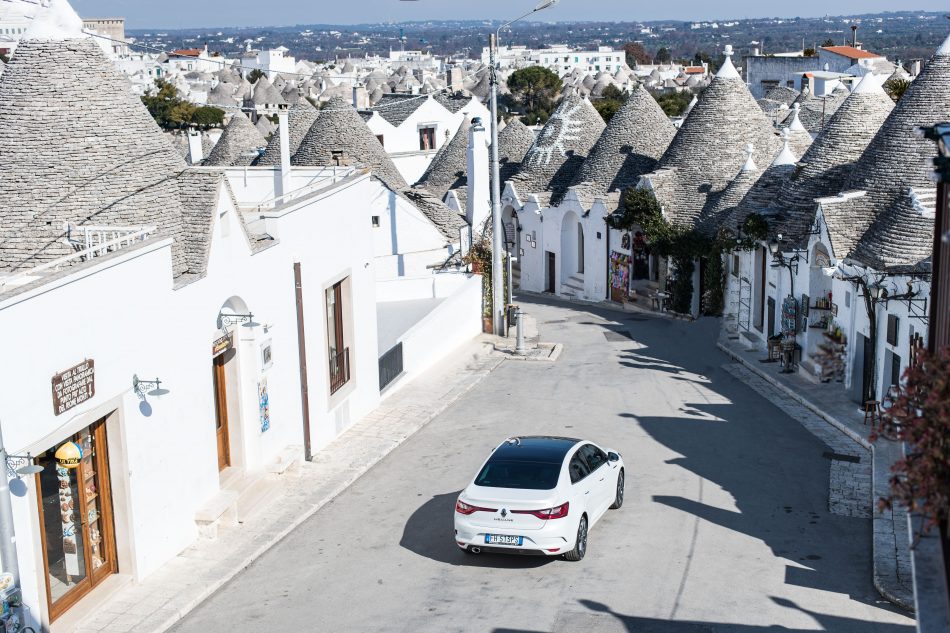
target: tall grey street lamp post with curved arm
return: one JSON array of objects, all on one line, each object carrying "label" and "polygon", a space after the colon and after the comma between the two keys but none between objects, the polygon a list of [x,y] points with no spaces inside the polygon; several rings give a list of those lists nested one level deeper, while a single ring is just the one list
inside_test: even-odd
[{"label": "tall grey street lamp post with curved arm", "polygon": [[553,7],[558,0],[541,0],[534,9],[521,17],[502,24],[489,36],[489,82],[491,83],[491,214],[492,214],[492,329],[498,336],[505,333],[505,289],[502,271],[501,251],[504,248],[501,227],[501,175],[498,166],[498,75],[496,73],[496,56],[498,53],[498,38],[502,29],[506,29],[518,20],[529,15]]}]

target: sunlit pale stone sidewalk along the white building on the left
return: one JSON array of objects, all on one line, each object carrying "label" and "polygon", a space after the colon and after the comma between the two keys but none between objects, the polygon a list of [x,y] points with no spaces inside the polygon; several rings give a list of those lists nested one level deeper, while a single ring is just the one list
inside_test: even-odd
[{"label": "sunlit pale stone sidewalk along the white building on the left", "polygon": [[490,337],[479,337],[386,398],[375,411],[292,474],[280,475],[280,492],[242,524],[218,528],[143,582],[119,590],[75,633],[161,633],[320,508],[346,490],[393,449],[467,393],[504,357]]}]

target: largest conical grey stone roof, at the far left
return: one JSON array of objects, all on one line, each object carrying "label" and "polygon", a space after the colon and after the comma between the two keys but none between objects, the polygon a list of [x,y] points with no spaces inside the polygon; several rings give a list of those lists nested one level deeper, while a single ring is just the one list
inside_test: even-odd
[{"label": "largest conical grey stone roof, at the far left", "polygon": [[69,222],[157,225],[175,238],[174,274],[186,272],[184,159],[69,5],[54,0],[48,11],[75,29],[38,14],[0,79],[0,268],[72,253]]}]

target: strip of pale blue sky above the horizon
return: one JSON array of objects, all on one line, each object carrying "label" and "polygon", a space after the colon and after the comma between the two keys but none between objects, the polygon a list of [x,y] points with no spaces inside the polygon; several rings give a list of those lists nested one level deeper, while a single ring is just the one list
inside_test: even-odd
[{"label": "strip of pale blue sky above the horizon", "polygon": [[[72,0],[84,17],[125,17],[126,27],[178,28],[214,26],[291,26],[294,24],[359,24],[412,20],[511,19],[529,11],[537,0]],[[914,0],[910,7],[892,0],[560,0],[538,14],[538,20],[708,20],[752,17],[810,17],[912,9],[940,11],[945,2]]]}]

